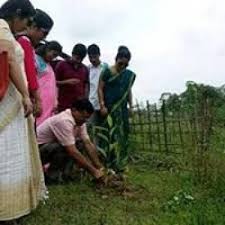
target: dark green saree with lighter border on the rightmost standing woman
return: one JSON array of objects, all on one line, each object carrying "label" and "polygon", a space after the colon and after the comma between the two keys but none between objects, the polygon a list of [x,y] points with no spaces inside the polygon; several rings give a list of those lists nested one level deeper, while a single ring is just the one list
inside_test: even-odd
[{"label": "dark green saree with lighter border on the rightmost standing woman", "polygon": [[[108,136],[111,139],[111,146],[113,144],[119,146],[114,151],[110,150],[107,160],[116,170],[120,170],[119,167],[123,167],[118,165],[122,164],[118,163],[118,161],[125,162],[128,158],[129,113],[127,104],[135,77],[136,75],[130,70],[126,69],[120,74],[112,74],[108,68],[102,73],[100,78],[105,83],[103,89],[104,102],[109,111],[109,116],[106,118],[103,126],[107,127],[109,135],[113,133],[111,137]],[[112,120],[112,125],[109,125],[109,117]],[[105,148],[102,142],[100,145],[103,149]]]}]

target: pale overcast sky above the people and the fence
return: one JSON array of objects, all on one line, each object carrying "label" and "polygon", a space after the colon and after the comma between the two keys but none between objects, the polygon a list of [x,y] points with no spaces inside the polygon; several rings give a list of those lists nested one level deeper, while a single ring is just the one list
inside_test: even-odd
[{"label": "pale overcast sky above the people and the fence", "polygon": [[[0,0],[2,4],[4,0]],[[55,26],[48,36],[71,53],[74,44],[97,43],[112,64],[119,45],[132,52],[137,99],[182,92],[193,80],[225,82],[224,0],[33,0]],[[88,62],[85,60],[85,62]]]}]

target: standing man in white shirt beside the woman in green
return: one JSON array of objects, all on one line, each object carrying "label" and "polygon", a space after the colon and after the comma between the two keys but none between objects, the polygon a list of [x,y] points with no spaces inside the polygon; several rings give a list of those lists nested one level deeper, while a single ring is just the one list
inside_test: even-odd
[{"label": "standing man in white shirt beside the woman in green", "polygon": [[98,84],[102,71],[108,67],[106,63],[101,62],[100,55],[101,53],[98,45],[92,44],[88,47],[88,57],[91,63],[88,66],[90,82],[89,100],[95,110],[89,121],[92,126],[99,126],[101,123],[100,105],[98,100]]}]

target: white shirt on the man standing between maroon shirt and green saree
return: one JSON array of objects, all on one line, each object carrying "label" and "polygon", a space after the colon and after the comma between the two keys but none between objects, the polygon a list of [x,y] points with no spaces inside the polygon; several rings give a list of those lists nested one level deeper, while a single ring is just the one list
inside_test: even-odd
[{"label": "white shirt on the man standing between maroon shirt and green saree", "polygon": [[107,67],[108,65],[106,63],[101,63],[98,67],[94,67],[92,64],[88,66],[89,81],[90,81],[89,100],[95,110],[100,109],[99,100],[98,100],[99,78],[102,71],[105,70]]}]

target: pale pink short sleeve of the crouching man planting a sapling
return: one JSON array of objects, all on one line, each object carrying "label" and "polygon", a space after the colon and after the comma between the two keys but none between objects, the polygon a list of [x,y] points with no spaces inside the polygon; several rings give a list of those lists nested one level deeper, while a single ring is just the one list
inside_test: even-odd
[{"label": "pale pink short sleeve of the crouching man planting a sapling", "polygon": [[74,126],[70,122],[62,120],[52,125],[51,130],[58,142],[63,146],[75,144]]}]

